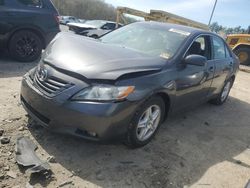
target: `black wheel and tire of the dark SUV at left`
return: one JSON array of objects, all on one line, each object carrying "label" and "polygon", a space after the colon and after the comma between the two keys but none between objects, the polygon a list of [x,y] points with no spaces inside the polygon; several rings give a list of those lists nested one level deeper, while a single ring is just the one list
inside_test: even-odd
[{"label": "black wheel and tire of the dark SUV at left", "polygon": [[41,56],[42,40],[32,31],[18,31],[10,39],[9,53],[17,61],[35,61]]}]

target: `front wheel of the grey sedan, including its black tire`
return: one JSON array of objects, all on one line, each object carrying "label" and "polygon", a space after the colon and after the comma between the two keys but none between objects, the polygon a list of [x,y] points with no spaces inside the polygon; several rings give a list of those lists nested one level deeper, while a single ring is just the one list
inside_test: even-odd
[{"label": "front wheel of the grey sedan, including its black tire", "polygon": [[[139,122],[140,121],[143,122],[143,121],[146,120],[146,114],[145,113],[151,107],[153,107],[151,109],[152,112],[153,112],[152,115],[154,113],[157,114],[156,110],[160,110],[159,111],[159,117],[156,118],[155,120],[153,120],[154,118],[152,118],[152,120],[150,120],[151,124],[149,122],[147,122],[148,125],[146,125],[146,123],[144,123],[144,125],[143,125],[144,128],[139,128],[138,127]],[[132,121],[130,122],[129,127],[128,127],[125,144],[127,146],[129,146],[130,148],[138,148],[138,147],[142,147],[142,146],[146,145],[147,143],[149,143],[152,140],[152,138],[154,137],[154,135],[156,134],[158,128],[160,127],[160,124],[164,120],[165,110],[166,110],[165,109],[165,104],[164,104],[164,101],[163,101],[163,99],[161,97],[154,96],[154,97],[148,99],[140,107],[140,109],[135,113],[134,117],[132,118]],[[152,132],[148,132],[148,135],[145,134],[144,139],[142,139],[143,137],[140,137],[140,136],[143,135],[143,131],[146,130],[147,126],[151,126],[151,128],[153,130],[149,129],[148,131],[152,131]],[[146,131],[144,131],[144,132],[146,133]],[[149,133],[151,133],[151,134],[149,134]]]}]

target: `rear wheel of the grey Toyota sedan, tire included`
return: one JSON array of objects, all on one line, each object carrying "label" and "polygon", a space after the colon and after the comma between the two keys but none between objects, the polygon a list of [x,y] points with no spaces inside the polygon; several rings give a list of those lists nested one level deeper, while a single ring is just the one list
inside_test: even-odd
[{"label": "rear wheel of the grey Toyota sedan, tire included", "polygon": [[223,103],[225,103],[232,88],[232,85],[233,85],[232,79],[226,81],[220,94],[215,99],[212,99],[209,102],[214,105],[222,105]]}]

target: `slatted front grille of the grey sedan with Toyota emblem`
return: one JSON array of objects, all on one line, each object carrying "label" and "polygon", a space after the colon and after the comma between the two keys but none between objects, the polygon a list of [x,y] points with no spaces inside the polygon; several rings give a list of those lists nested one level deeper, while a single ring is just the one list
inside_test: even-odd
[{"label": "slatted front grille of the grey sedan with Toyota emblem", "polygon": [[55,76],[50,76],[45,80],[40,80],[38,74],[39,72],[37,71],[34,78],[38,89],[50,96],[56,95],[72,86],[72,84]]}]

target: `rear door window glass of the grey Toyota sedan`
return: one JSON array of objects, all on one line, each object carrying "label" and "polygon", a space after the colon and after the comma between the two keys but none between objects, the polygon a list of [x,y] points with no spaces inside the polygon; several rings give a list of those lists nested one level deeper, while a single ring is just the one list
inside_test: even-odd
[{"label": "rear door window glass of the grey Toyota sedan", "polygon": [[224,59],[226,57],[224,42],[219,37],[213,37],[213,52],[214,59]]}]

